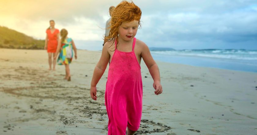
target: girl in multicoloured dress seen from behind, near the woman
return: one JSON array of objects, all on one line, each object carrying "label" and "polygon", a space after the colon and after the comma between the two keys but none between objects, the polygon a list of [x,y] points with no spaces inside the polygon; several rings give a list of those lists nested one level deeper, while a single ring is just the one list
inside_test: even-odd
[{"label": "girl in multicoloured dress seen from behind, near the woman", "polygon": [[58,52],[60,51],[60,48],[61,48],[57,63],[58,65],[65,65],[66,75],[64,79],[71,81],[69,64],[72,61],[73,50],[75,52],[75,59],[77,59],[77,49],[73,40],[67,37],[68,31],[66,29],[61,29],[60,33],[61,33],[61,40],[58,42],[58,47],[54,58],[56,59]]}]

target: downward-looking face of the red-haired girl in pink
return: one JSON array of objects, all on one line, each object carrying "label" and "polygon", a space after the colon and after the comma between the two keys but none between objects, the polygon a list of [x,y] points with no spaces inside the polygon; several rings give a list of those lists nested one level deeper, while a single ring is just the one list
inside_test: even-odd
[{"label": "downward-looking face of the red-haired girl in pink", "polygon": [[136,32],[138,29],[138,20],[130,21],[130,22],[122,22],[119,26],[119,40],[130,41],[136,36]]}]

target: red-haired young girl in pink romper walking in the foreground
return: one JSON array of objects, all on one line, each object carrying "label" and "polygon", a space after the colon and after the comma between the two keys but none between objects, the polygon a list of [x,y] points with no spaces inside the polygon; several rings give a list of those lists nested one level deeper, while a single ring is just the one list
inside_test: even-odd
[{"label": "red-haired young girl in pink romper walking in the foreground", "polygon": [[122,1],[112,13],[110,34],[102,49],[91,81],[91,98],[96,100],[96,84],[110,59],[106,82],[105,104],[108,114],[108,135],[134,134],[140,126],[143,87],[141,58],[154,80],[155,94],[162,93],[160,73],[147,45],[135,38],[141,10],[133,2]]}]

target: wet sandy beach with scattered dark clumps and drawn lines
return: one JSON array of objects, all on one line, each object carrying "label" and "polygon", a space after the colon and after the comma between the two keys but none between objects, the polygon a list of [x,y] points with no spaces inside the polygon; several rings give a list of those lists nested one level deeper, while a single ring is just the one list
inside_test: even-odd
[{"label": "wet sandy beach with scattered dark clumps and drawn lines", "polygon": [[[90,82],[101,51],[78,50],[70,65],[48,70],[45,50],[0,49],[1,135],[106,135],[106,72],[98,99]],[[257,135],[257,73],[157,61],[163,93],[141,62],[143,114],[137,135]]]}]

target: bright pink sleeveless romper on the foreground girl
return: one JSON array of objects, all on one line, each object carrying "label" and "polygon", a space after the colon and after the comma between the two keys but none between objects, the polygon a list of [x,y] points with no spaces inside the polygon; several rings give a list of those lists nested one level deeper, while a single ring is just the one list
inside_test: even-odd
[{"label": "bright pink sleeveless romper on the foreground girl", "polygon": [[143,86],[135,44],[136,38],[133,39],[132,51],[122,52],[117,50],[115,41],[105,91],[108,135],[125,135],[127,127],[136,131],[140,126]]}]

